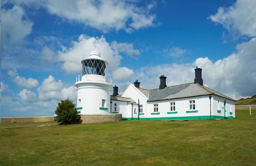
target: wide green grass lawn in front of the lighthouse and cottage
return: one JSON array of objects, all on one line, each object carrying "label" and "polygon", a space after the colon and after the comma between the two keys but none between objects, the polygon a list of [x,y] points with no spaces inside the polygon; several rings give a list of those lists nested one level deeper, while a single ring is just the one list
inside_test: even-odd
[{"label": "wide green grass lawn in front of the lighthouse and cottage", "polygon": [[0,136],[0,165],[256,165],[256,110],[236,110],[236,119],[7,128]]}]

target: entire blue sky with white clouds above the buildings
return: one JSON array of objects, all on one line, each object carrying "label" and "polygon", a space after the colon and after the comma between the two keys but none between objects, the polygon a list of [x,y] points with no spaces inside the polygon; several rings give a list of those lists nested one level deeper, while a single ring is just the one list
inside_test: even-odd
[{"label": "entire blue sky with white clouds above the buildings", "polygon": [[256,94],[255,0],[2,0],[1,117],[51,116],[76,103],[80,61],[109,62],[121,94],[193,82],[234,99]]}]

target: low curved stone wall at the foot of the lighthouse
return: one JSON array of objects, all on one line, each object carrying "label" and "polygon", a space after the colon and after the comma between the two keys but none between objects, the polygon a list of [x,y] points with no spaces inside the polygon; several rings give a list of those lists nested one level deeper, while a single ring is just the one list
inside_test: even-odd
[{"label": "low curved stone wall at the foot of the lighthouse", "polygon": [[121,121],[122,114],[83,114],[81,115],[82,123],[103,123],[108,121]]}]

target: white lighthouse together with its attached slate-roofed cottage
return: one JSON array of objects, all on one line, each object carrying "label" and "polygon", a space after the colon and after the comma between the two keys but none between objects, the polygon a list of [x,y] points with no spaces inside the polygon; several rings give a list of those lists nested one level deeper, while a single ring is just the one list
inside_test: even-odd
[{"label": "white lighthouse together with its attached slate-roofed cottage", "polygon": [[[77,79],[78,109],[81,114],[121,113],[123,120],[186,120],[221,119],[235,117],[234,102],[203,85],[202,69],[196,67],[192,83],[166,86],[166,77],[160,76],[157,89],[140,88],[136,80],[123,94],[106,80],[108,64],[100,53],[92,51],[82,61],[83,74]],[[113,95],[110,96],[110,88]]]}]

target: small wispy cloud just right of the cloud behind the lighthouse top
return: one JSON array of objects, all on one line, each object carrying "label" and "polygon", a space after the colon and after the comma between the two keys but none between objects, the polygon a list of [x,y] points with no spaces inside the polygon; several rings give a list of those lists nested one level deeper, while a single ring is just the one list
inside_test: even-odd
[{"label": "small wispy cloud just right of the cloud behind the lighthouse top", "polygon": [[118,54],[118,52],[126,53],[130,57],[137,58],[140,51],[133,48],[132,43],[118,43],[117,41],[111,42],[111,47]]}]

